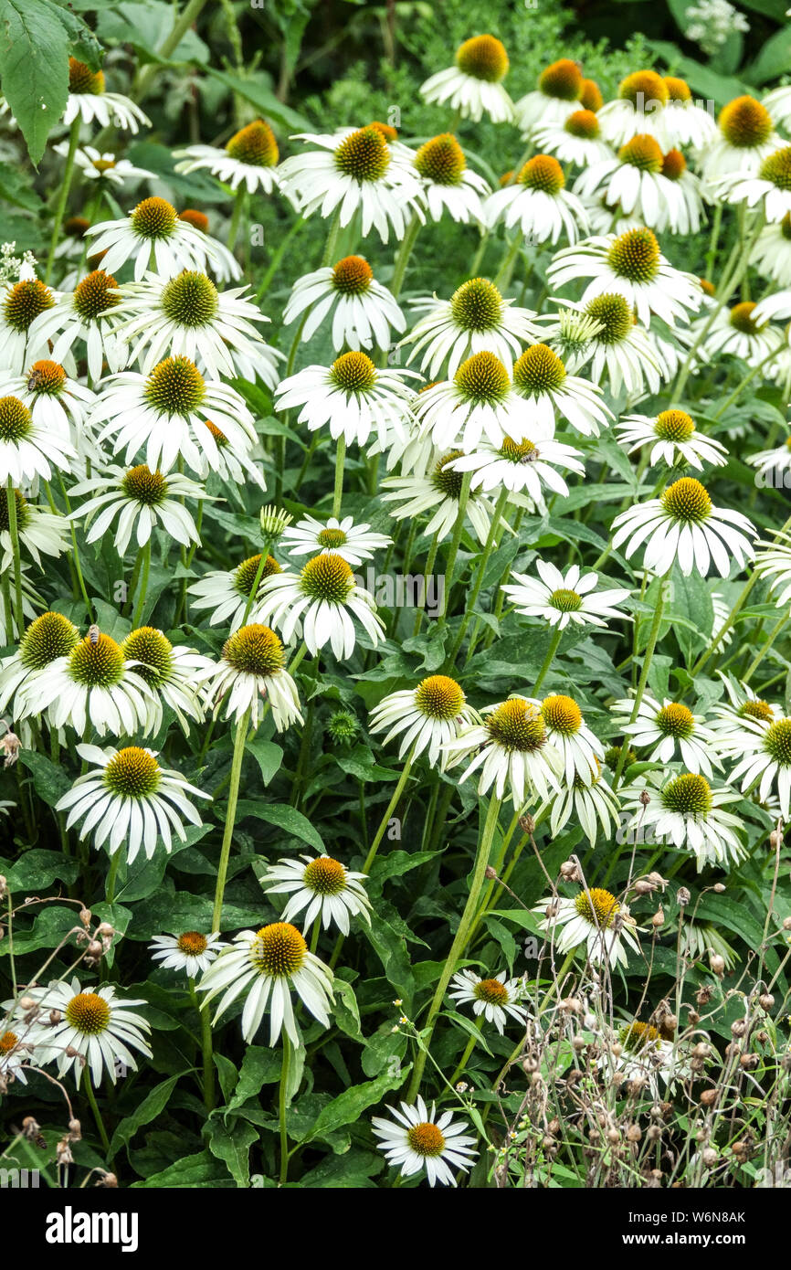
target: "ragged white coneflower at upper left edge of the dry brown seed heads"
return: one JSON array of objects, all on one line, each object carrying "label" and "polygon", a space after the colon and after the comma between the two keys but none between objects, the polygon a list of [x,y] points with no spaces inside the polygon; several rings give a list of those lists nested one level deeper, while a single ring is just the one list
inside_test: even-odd
[{"label": "ragged white coneflower at upper left edge of the dry brown seed heads", "polygon": [[601,886],[580,890],[571,899],[545,899],[533,912],[541,914],[540,930],[555,940],[560,952],[584,944],[592,965],[626,965],[626,949],[640,951],[640,927],[628,907]]}]

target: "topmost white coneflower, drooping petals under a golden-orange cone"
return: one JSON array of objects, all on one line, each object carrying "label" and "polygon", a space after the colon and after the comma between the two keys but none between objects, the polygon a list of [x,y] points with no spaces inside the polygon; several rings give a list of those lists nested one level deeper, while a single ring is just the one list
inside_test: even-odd
[{"label": "topmost white coneflower, drooping petals under a golden-orange cone", "polygon": [[480,123],[488,114],[493,123],[509,123],[513,102],[503,88],[508,74],[505,46],[494,36],[474,36],[456,50],[456,65],[430,75],[420,85],[420,97],[437,105],[447,104],[462,119]]}]

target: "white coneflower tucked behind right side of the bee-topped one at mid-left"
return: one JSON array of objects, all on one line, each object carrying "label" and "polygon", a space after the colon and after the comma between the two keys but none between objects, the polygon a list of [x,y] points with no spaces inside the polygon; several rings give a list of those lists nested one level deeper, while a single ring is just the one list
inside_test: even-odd
[{"label": "white coneflower tucked behind right side of the bee-topped one at mid-left", "polygon": [[175,714],[185,735],[189,735],[187,718],[197,721],[203,719],[201,688],[216,671],[212,659],[185,644],[174,646],[154,626],[140,626],[131,631],[121,649],[133,664],[135,673],[151,688],[147,730],[152,734],[160,730],[164,702]]}]

